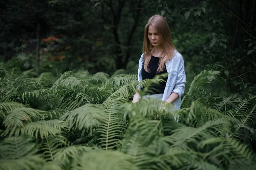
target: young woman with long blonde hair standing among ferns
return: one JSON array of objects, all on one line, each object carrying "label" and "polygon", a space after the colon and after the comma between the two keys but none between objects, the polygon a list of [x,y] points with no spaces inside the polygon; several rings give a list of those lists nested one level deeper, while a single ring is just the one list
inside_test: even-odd
[{"label": "young woman with long blonde hair standing among ferns", "polygon": [[[166,19],[154,15],[145,25],[143,54],[139,60],[138,81],[154,78],[155,75],[168,73],[165,81],[153,84],[143,98],[157,98],[173,103],[175,109],[180,109],[181,96],[185,90],[186,75],[184,61],[172,43],[172,38]],[[140,90],[140,87],[138,88]],[[140,100],[136,92],[133,103]]]}]

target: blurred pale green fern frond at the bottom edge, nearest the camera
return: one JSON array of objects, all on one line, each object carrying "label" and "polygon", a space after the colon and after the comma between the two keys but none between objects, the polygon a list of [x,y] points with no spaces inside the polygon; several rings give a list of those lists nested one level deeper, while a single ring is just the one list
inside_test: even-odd
[{"label": "blurred pale green fern frond at the bottom edge, nearest the camera", "polygon": [[131,156],[118,151],[86,152],[80,159],[74,160],[72,167],[76,170],[139,170]]}]

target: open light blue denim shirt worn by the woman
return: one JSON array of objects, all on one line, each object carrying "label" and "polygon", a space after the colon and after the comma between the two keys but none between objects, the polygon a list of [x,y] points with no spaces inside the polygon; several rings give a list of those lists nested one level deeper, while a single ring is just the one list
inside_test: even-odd
[{"label": "open light blue denim shirt worn by the woman", "polygon": [[[143,66],[143,54],[140,56],[139,69],[138,69],[138,81],[142,81],[141,69]],[[173,103],[176,110],[180,109],[181,96],[185,90],[186,74],[184,70],[184,61],[182,55],[174,51],[174,57],[166,62],[166,70],[168,72],[168,79],[166,81],[166,87],[163,92],[162,101],[166,101],[172,92],[179,95],[179,98]],[[139,86],[140,89],[140,86]]]}]

